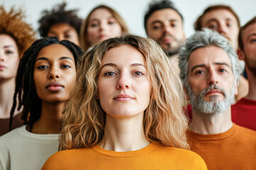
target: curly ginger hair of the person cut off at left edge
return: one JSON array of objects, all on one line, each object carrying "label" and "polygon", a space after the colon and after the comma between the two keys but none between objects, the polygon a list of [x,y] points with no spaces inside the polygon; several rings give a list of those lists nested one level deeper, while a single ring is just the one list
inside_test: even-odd
[{"label": "curly ginger hair of the person cut off at left edge", "polygon": [[35,40],[35,32],[23,21],[23,18],[21,9],[16,12],[12,7],[8,13],[4,6],[0,6],[0,34],[10,35],[11,38],[14,38],[20,57]]}]

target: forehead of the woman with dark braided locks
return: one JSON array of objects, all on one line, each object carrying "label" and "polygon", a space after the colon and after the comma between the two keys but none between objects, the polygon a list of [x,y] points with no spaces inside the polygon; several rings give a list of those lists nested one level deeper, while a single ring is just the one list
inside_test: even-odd
[{"label": "forehead of the woman with dark braided locks", "polygon": [[47,57],[50,59],[58,59],[60,57],[70,57],[74,59],[72,52],[68,50],[67,47],[60,44],[47,45],[43,47],[39,52],[36,58],[38,57]]}]

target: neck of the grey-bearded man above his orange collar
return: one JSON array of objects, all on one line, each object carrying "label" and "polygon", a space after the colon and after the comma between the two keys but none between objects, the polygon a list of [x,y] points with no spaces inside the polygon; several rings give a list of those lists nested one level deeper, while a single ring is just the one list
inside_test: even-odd
[{"label": "neck of the grey-bearded man above his orange collar", "polygon": [[203,134],[219,134],[228,131],[232,128],[231,108],[225,113],[218,115],[208,115],[203,113],[192,112],[192,122],[189,125],[189,130]]}]

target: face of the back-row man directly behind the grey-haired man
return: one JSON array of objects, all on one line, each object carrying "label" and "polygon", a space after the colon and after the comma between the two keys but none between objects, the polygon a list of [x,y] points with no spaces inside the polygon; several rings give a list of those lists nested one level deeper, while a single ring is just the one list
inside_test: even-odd
[{"label": "face of the back-row man directly behind the grey-haired man", "polygon": [[202,28],[218,31],[228,39],[228,42],[235,50],[238,49],[238,21],[230,11],[226,9],[209,11],[202,18]]}]

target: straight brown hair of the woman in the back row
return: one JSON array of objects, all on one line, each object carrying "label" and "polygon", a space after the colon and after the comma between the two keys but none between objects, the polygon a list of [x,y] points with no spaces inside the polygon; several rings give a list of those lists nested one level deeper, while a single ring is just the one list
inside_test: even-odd
[{"label": "straight brown hair of the woman in the back row", "polygon": [[107,11],[110,11],[110,13],[113,15],[113,17],[117,20],[117,22],[121,26],[122,33],[128,33],[127,25],[122,19],[122,17],[117,13],[117,11],[114,11],[113,8],[110,8],[109,6],[105,6],[105,5],[96,6],[95,8],[92,9],[92,11],[90,11],[88,16],[85,18],[85,21],[82,23],[82,27],[80,29],[80,45],[85,52],[88,50],[89,47],[91,47],[91,43],[86,40],[89,18],[92,15],[92,13],[99,8],[105,8],[107,9]]}]

